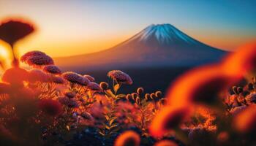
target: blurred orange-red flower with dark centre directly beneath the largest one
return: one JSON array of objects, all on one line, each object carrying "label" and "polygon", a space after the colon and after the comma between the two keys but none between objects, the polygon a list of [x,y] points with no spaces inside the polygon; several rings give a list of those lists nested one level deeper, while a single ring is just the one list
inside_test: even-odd
[{"label": "blurred orange-red flower with dark centre directly beneath the largest one", "polygon": [[164,107],[152,120],[149,131],[153,137],[162,137],[167,131],[176,128],[190,115],[190,109],[184,107]]}]

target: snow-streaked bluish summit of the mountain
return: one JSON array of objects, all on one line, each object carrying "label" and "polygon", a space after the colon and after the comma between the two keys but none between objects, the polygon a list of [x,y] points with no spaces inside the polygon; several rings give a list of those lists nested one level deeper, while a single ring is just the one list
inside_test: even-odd
[{"label": "snow-streaked bluish summit of the mountain", "polygon": [[186,42],[188,44],[195,44],[197,41],[187,36],[183,32],[179,31],[178,28],[170,24],[152,24],[147,28],[140,31],[140,33],[135,36],[136,39],[140,41],[147,42],[154,37],[160,44],[170,44],[173,42]]}]

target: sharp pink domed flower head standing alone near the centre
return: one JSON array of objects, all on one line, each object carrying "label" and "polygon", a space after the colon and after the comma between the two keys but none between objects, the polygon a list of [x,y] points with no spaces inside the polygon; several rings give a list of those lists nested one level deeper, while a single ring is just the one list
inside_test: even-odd
[{"label": "sharp pink domed flower head standing alone near the centre", "polygon": [[116,80],[118,83],[132,85],[132,79],[128,74],[121,72],[120,70],[113,70],[108,72],[108,77]]}]

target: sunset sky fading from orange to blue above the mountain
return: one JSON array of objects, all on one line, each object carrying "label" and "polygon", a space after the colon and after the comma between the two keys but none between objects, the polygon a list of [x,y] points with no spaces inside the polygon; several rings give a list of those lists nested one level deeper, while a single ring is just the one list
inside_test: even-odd
[{"label": "sunset sky fading from orange to blue above the mountain", "polygon": [[[37,31],[18,42],[19,53],[53,57],[93,53],[129,39],[146,26],[170,23],[223,50],[256,38],[256,1],[241,0],[0,0],[0,21],[25,18]],[[1,42],[0,54],[6,54]]]}]

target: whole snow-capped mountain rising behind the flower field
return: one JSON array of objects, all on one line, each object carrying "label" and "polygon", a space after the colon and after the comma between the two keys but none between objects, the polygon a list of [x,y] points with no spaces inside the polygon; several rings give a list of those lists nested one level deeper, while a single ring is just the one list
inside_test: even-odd
[{"label": "whole snow-capped mountain rising behind the flower field", "polygon": [[219,61],[226,53],[189,37],[170,24],[153,24],[108,50],[55,58],[55,61],[59,66],[85,69],[196,66]]}]

